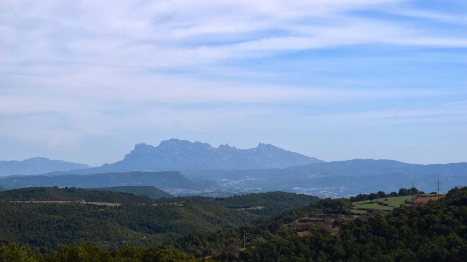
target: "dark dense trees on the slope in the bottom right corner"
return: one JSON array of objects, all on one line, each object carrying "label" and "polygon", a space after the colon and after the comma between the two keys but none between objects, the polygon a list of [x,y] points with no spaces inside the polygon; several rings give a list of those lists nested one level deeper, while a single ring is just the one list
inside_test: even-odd
[{"label": "dark dense trees on the slope in the bottom right corner", "polygon": [[467,188],[416,208],[358,218],[339,234],[315,231],[240,252],[242,261],[467,261]]}]

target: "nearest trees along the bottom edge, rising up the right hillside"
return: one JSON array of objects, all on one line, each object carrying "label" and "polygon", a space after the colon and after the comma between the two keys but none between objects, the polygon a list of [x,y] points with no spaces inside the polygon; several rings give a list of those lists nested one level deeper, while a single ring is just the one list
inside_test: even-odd
[{"label": "nearest trees along the bottom edge, rising up the right hillside", "polygon": [[[299,237],[284,226],[310,214],[347,213],[348,199],[323,199],[318,203],[263,217],[253,223],[210,233],[192,233],[153,248],[121,247],[105,251],[97,246],[62,246],[44,255],[28,247],[0,248],[0,261],[196,261],[206,256],[214,261],[245,262],[438,262],[467,261],[467,188],[454,188],[446,197],[417,207],[395,208],[339,222],[338,233],[311,229]],[[247,234],[248,233],[248,234]],[[244,243],[244,236],[246,242]],[[246,249],[242,249],[243,245]],[[13,254],[13,255],[12,255]],[[14,260],[15,256],[27,259]],[[29,256],[29,257],[28,257]]]}]

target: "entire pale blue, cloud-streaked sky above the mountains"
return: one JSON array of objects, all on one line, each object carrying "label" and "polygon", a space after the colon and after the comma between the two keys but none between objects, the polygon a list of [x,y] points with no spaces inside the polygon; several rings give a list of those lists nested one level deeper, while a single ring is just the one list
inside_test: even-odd
[{"label": "entire pale blue, cloud-streaked sky above the mountains", "polygon": [[467,1],[0,0],[0,160],[170,138],[467,162]]}]

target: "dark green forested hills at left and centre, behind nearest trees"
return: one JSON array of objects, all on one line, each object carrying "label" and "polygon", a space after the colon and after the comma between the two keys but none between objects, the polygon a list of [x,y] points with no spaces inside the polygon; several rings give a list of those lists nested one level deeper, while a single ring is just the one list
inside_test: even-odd
[{"label": "dark green forested hills at left and centre, behind nearest trees", "polygon": [[[305,206],[316,197],[284,192],[229,198],[152,199],[129,193],[76,188],[23,188],[0,193],[0,243],[27,244],[42,251],[58,244],[91,241],[102,248],[154,246],[190,233],[207,233],[250,223],[259,215]],[[17,203],[5,200],[86,200],[124,203]],[[144,201],[145,202],[144,202]],[[262,208],[258,209],[257,207]]]}]

